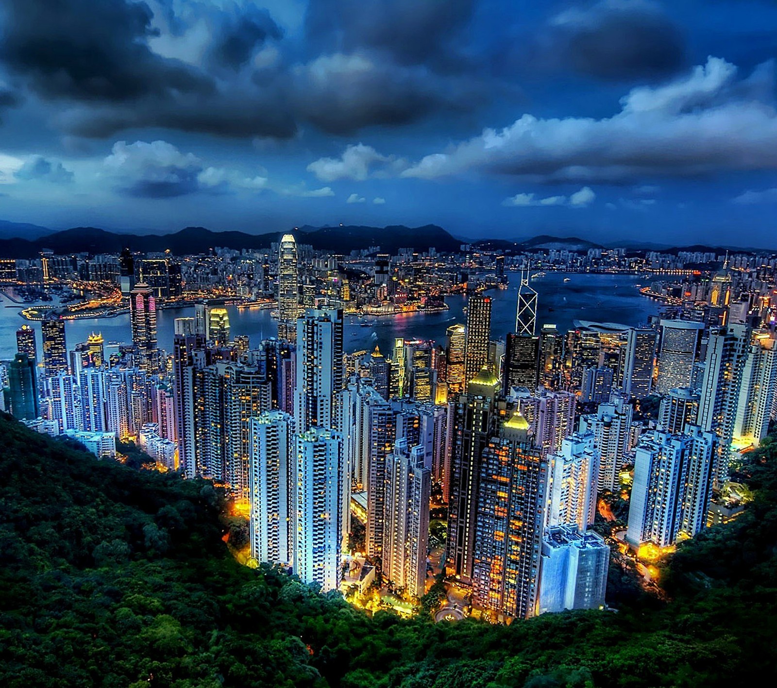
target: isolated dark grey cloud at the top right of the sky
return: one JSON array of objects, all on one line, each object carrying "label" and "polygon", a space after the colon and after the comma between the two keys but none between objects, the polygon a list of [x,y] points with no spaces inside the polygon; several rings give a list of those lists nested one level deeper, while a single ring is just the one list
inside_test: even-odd
[{"label": "isolated dark grey cloud at the top right of the sky", "polygon": [[552,19],[547,55],[559,68],[601,79],[657,78],[685,64],[681,32],[657,5],[605,0]]}]

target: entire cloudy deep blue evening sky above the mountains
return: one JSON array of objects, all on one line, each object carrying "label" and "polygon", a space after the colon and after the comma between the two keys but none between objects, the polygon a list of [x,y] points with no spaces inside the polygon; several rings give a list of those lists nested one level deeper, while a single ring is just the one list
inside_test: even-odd
[{"label": "entire cloudy deep blue evening sky above the mountains", "polygon": [[3,0],[0,219],[777,248],[777,2]]}]

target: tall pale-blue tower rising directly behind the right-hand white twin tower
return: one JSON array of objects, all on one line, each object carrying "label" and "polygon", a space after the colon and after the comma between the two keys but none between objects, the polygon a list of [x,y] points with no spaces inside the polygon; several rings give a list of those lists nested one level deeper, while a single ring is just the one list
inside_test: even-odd
[{"label": "tall pale-blue tower rising directly behind the right-hand white twin tower", "polygon": [[297,321],[298,433],[333,428],[335,394],[343,389],[343,311],[309,310]]}]

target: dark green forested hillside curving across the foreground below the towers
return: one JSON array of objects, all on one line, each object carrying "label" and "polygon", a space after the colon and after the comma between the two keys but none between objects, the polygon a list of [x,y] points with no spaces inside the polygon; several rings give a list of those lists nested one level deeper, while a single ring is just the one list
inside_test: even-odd
[{"label": "dark green forested hillside curving across the foreground below the towers", "polygon": [[0,418],[0,685],[747,686],[775,672],[777,446],[749,513],[684,544],[670,601],[510,627],[365,616],[238,565],[207,482],[136,471]]}]

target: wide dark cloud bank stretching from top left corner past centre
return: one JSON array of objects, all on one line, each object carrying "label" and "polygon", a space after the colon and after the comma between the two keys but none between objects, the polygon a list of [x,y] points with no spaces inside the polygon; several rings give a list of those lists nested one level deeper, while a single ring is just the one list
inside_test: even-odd
[{"label": "wide dark cloud bank stretching from top left corner past centre", "polygon": [[301,51],[284,43],[270,13],[250,2],[9,0],[0,61],[28,90],[60,102],[54,125],[81,137],[159,127],[284,139],[299,123],[347,134],[483,101],[473,78],[422,64],[448,54],[444,45],[471,6],[314,3],[314,14],[335,12],[335,33],[346,37],[311,54],[307,42]]}]

